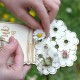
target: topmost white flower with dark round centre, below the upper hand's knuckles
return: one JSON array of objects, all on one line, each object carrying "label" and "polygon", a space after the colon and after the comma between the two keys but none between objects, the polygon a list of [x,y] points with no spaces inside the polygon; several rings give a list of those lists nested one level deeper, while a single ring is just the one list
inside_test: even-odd
[{"label": "topmost white flower with dark round centre, below the upper hand's knuckles", "polygon": [[60,39],[65,35],[65,30],[67,30],[67,27],[64,25],[63,21],[54,20],[50,25],[50,37]]}]

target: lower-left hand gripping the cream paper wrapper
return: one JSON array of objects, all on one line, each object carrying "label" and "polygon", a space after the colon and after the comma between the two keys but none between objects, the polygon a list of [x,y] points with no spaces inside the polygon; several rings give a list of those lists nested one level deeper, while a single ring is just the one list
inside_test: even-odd
[{"label": "lower-left hand gripping the cream paper wrapper", "polygon": [[[11,54],[14,54],[14,63],[8,65],[7,61]],[[10,43],[0,51],[0,80],[22,80],[30,66],[25,65],[23,61],[22,49],[13,37]]]}]

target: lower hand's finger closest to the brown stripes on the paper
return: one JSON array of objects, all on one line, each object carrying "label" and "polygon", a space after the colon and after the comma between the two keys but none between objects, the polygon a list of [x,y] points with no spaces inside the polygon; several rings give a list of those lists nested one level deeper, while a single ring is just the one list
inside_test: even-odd
[{"label": "lower hand's finger closest to the brown stripes on the paper", "polygon": [[22,48],[21,48],[20,44],[18,43],[18,47],[15,51],[13,66],[22,68],[23,64],[24,64],[24,55],[23,55]]}]

